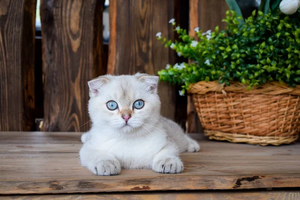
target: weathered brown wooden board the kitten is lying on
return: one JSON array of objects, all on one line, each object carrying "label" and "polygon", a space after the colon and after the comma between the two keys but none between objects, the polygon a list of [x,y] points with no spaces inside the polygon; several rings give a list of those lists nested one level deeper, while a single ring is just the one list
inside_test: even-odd
[{"label": "weathered brown wooden board the kitten is lying on", "polygon": [[255,146],[201,138],[184,171],[97,176],[78,159],[79,132],[1,132],[0,194],[300,187],[300,143]]}]

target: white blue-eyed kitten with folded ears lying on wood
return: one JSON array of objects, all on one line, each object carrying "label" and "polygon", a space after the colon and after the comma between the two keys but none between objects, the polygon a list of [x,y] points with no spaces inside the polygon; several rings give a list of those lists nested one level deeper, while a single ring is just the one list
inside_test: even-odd
[{"label": "white blue-eyed kitten with folded ears lying on wood", "polygon": [[158,77],[103,75],[88,82],[92,127],[81,136],[81,164],[97,175],[119,174],[122,168],[183,170],[179,152],[199,144],[175,122],[160,116]]}]

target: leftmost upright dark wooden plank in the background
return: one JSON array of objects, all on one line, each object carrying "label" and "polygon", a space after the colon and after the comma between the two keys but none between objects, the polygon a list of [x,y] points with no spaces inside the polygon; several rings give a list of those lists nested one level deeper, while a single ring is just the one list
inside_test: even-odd
[{"label": "leftmost upright dark wooden plank in the background", "polygon": [[35,5],[0,1],[0,131],[34,127]]}]

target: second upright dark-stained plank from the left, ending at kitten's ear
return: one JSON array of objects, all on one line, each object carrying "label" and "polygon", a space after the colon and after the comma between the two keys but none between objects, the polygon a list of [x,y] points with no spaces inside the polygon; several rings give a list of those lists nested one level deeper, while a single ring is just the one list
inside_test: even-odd
[{"label": "second upright dark-stained plank from the left, ending at kitten's ear", "polygon": [[103,0],[41,0],[45,131],[89,128],[87,81],[102,66]]}]

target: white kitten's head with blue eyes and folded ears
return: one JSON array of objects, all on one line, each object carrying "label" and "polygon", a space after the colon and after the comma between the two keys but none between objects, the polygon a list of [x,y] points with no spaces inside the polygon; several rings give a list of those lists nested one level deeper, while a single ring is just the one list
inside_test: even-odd
[{"label": "white kitten's head with blue eyes and folded ears", "polygon": [[93,125],[126,133],[153,129],[160,112],[157,83],[157,76],[139,73],[89,81],[88,110]]}]

